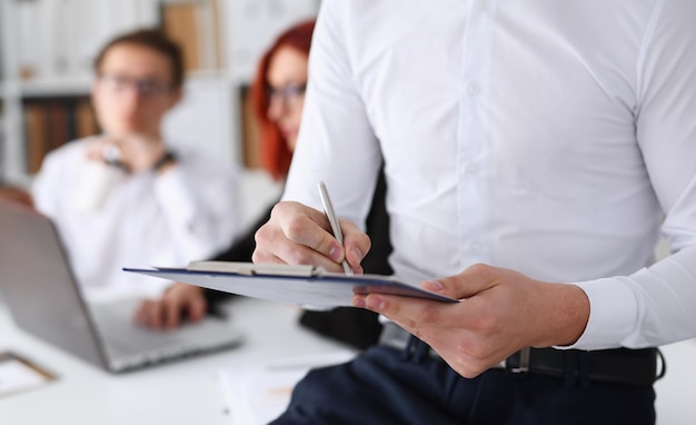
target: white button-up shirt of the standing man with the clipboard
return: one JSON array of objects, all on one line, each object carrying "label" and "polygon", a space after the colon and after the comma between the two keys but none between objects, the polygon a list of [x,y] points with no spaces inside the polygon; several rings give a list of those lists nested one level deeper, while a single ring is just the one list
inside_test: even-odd
[{"label": "white button-up shirt of the standing man with the clipboard", "polygon": [[[696,1],[325,0],[285,199],[362,223],[381,156],[399,277],[574,283],[576,348],[696,336]],[[664,221],[662,218],[664,217]],[[659,231],[676,254],[654,264]]]}]

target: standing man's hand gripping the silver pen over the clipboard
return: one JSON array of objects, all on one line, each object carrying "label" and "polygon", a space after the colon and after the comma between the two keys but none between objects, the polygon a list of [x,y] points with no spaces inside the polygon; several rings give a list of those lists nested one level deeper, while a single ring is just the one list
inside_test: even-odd
[{"label": "standing man's hand gripping the silver pen over the clipboard", "polygon": [[284,201],[274,207],[270,219],[256,233],[253,263],[281,263],[321,266],[342,271],[344,258],[354,273],[361,274],[360,261],[370,249],[369,237],[347,220],[340,220],[344,246],[331,235],[322,211]]}]

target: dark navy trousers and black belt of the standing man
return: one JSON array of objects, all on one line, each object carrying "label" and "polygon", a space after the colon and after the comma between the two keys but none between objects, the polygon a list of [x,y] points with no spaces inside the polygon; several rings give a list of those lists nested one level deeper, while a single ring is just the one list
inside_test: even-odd
[{"label": "dark navy trousers and black belt of the standing man", "polygon": [[376,346],[310,372],[272,424],[655,424],[652,385],[567,376],[489,369],[468,379],[422,347]]}]

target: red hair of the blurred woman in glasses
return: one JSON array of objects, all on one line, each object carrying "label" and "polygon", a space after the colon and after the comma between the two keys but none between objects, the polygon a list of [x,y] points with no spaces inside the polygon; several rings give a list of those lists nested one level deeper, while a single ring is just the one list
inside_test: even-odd
[{"label": "red hair of the blurred woman in glasses", "polygon": [[278,126],[268,119],[267,112],[270,102],[268,95],[268,66],[272,56],[281,47],[291,47],[309,57],[311,34],[315,30],[315,19],[300,22],[282,32],[268,51],[261,57],[251,85],[251,107],[259,121],[261,162],[264,168],[276,180],[285,179],[290,168],[292,152],[288,149]]}]

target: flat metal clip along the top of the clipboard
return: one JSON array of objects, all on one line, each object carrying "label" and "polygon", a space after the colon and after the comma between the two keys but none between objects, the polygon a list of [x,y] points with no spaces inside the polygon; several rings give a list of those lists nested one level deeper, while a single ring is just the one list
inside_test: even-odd
[{"label": "flat metal clip along the top of the clipboard", "polygon": [[287,264],[253,264],[243,261],[190,261],[189,271],[232,273],[246,276],[321,276],[326,270],[320,266]]}]

